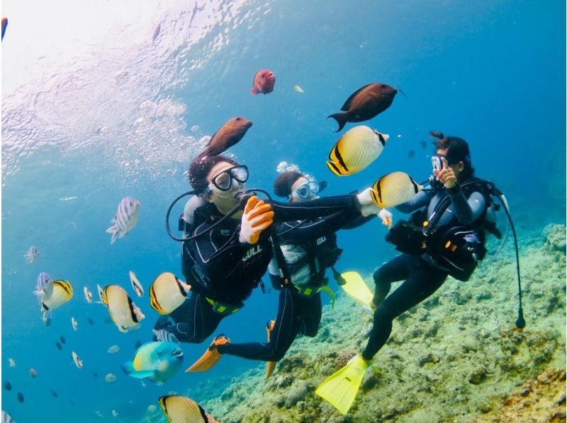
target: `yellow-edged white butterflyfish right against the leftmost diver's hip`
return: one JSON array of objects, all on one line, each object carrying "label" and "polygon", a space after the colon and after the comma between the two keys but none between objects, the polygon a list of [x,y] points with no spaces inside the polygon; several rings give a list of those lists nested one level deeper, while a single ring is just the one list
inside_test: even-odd
[{"label": "yellow-edged white butterflyfish right against the leftmost diver's hip", "polygon": [[169,314],[185,301],[191,286],[171,272],[159,274],[150,286],[150,305],[159,314]]}]

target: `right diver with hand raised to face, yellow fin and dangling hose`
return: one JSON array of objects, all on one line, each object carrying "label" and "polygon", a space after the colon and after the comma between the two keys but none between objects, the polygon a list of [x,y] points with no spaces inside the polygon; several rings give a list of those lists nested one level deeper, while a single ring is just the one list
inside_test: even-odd
[{"label": "right diver with hand raised to face, yellow fin and dangling hose", "polygon": [[[439,132],[432,133],[432,137],[437,138],[434,142],[437,151],[432,156],[434,176],[430,178],[430,187],[396,207],[400,212],[413,214],[410,221],[398,221],[386,236],[386,241],[396,245],[402,254],[374,273],[376,290],[371,301],[374,325],[366,348],[315,390],[342,414],[346,414],[354,402],[371,359],[390,337],[393,320],[432,296],[447,276],[468,280],[477,261],[486,253],[485,231],[500,238],[490,207],[497,204],[492,204],[490,195],[499,196],[514,231],[502,192],[491,182],[473,176],[466,141],[444,137]],[[519,262],[517,270],[520,289]],[[402,280],[404,282],[388,295],[391,284]],[[521,290],[516,325],[518,328],[525,325]]]}]

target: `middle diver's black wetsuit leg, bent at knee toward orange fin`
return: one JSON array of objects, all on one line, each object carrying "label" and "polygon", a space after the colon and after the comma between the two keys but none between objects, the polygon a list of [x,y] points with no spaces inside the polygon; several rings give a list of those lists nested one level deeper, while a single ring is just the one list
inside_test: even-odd
[{"label": "middle diver's black wetsuit leg, bent at knee toward orange fin", "polygon": [[270,342],[219,345],[218,352],[249,360],[281,360],[296,339],[300,328],[296,308],[296,302],[300,297],[293,294],[292,289],[283,288],[279,293],[278,315],[274,330],[271,331]]}]

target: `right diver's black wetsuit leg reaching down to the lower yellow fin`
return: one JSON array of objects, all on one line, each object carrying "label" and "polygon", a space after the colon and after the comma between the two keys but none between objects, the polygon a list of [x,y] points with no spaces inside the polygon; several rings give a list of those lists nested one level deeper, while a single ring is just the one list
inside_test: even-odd
[{"label": "right diver's black wetsuit leg reaching down to the lower yellow fin", "polygon": [[386,297],[374,312],[374,326],[366,349],[362,353],[362,357],[366,360],[372,359],[383,344],[386,344],[394,318],[427,299],[447,279],[446,272],[432,267],[421,257],[408,257],[412,258],[407,260],[410,265],[408,279]]}]

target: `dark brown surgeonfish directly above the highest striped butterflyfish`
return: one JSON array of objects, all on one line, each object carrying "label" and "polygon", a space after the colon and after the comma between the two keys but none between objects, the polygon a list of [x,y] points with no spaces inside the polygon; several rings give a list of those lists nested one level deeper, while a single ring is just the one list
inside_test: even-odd
[{"label": "dark brown surgeonfish directly above the highest striped butterflyfish", "polygon": [[386,83],[369,83],[352,95],[342,105],[342,112],[333,113],[332,117],[339,124],[339,132],[347,122],[364,122],[383,112],[392,104],[398,90]]}]

